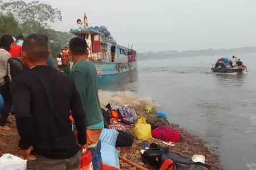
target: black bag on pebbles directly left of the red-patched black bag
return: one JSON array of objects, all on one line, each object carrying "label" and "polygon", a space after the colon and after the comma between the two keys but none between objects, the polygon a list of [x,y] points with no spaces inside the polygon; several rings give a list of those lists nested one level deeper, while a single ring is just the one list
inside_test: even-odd
[{"label": "black bag on pebbles directly left of the red-patched black bag", "polygon": [[156,168],[160,168],[162,165],[161,158],[163,154],[169,152],[169,147],[160,147],[156,143],[151,143],[150,148],[143,152],[142,162],[149,164]]}]

